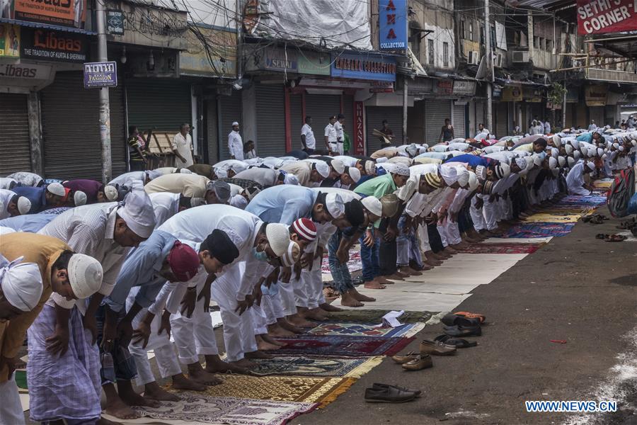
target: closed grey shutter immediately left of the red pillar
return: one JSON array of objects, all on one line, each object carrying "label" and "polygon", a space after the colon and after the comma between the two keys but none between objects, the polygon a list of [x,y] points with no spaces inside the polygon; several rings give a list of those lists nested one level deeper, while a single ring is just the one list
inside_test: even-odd
[{"label": "closed grey shutter immediately left of the red pillar", "polygon": [[283,86],[280,84],[256,86],[257,140],[255,142],[259,157],[272,157],[285,153],[285,98],[283,96]]}]

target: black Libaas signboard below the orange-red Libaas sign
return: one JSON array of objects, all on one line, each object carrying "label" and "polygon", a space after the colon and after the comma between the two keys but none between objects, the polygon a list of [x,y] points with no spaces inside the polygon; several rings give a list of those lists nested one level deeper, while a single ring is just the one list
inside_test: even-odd
[{"label": "black Libaas signboard below the orange-red Libaas sign", "polygon": [[25,59],[81,64],[88,57],[86,35],[27,27],[22,27],[21,35],[21,56]]}]

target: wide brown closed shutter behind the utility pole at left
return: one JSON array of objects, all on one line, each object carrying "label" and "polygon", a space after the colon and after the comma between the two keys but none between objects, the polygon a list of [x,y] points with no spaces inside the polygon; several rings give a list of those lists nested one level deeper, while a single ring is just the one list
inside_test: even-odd
[{"label": "wide brown closed shutter behind the utility pole at left", "polygon": [[[44,171],[49,179],[102,180],[99,94],[84,89],[81,72],[57,72],[42,89]],[[110,149],[113,176],[126,171],[124,96],[121,87],[109,90]]]}]

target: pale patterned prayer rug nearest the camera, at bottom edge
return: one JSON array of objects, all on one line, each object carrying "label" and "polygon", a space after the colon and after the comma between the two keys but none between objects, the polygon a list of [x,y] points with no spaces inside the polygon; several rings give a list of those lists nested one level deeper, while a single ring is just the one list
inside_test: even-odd
[{"label": "pale patterned prayer rug nearest the camera, at bottom edge", "polygon": [[[214,387],[213,387],[214,388]],[[289,403],[264,399],[235,397],[210,397],[193,392],[180,394],[178,402],[161,402],[160,407],[133,407],[142,416],[150,416],[153,421],[135,419],[127,423],[170,423],[185,421],[187,424],[229,425],[279,425],[316,408],[314,403]],[[119,419],[103,414],[117,423]]]}]

